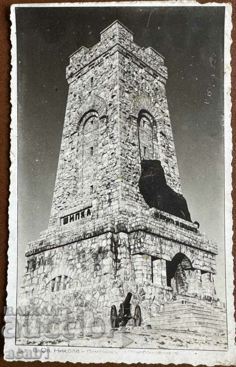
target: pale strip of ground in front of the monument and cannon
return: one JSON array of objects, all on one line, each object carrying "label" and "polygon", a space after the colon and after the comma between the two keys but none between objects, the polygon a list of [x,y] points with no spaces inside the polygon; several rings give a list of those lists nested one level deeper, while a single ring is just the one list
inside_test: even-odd
[{"label": "pale strip of ground in front of the monument and cannon", "polygon": [[[204,331],[152,329],[149,327],[119,327],[110,333],[99,333],[96,330],[84,329],[76,336],[50,339],[43,335],[40,342],[33,345],[41,346],[77,346],[94,348],[151,348],[151,349],[199,349],[199,350],[226,350],[227,334],[212,334]],[[19,345],[32,344],[30,339],[21,338]]]}]

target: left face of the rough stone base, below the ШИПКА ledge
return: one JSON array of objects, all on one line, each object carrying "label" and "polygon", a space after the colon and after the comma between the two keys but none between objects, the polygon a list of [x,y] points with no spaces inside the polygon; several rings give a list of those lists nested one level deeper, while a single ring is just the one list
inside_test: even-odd
[{"label": "left face of the rough stone base, below the \u0428\u0418\u041f\u041a\u0410 ledge", "polygon": [[[107,316],[110,311],[107,288],[116,277],[118,263],[112,233],[57,247],[28,258],[23,290],[26,298],[40,307],[45,299],[49,303],[51,299],[64,308],[84,306],[100,317]],[[61,275],[70,278],[69,287],[63,292],[51,291],[51,281]]]}]

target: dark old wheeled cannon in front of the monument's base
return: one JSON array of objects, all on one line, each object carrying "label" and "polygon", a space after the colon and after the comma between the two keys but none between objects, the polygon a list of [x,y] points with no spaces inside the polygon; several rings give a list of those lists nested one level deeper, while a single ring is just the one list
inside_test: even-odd
[{"label": "dark old wheeled cannon in front of the monument's base", "polygon": [[130,300],[132,293],[128,292],[126,299],[120,304],[119,314],[117,316],[116,306],[112,305],[110,310],[110,323],[112,328],[119,326],[126,326],[128,320],[134,319],[134,326],[141,325],[141,308],[139,305],[135,306],[134,316],[130,313]]}]

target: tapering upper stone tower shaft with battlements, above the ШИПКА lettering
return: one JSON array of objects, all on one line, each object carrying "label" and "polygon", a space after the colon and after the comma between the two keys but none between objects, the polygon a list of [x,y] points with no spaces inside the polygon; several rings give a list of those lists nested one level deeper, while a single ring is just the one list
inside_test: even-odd
[{"label": "tapering upper stone tower shaft with battlements, above the \u0428\u0418\u041f\u041a\u0410 lettering", "polygon": [[[70,57],[67,78],[68,102],[50,225],[58,224],[58,212],[64,214],[73,206],[86,206],[94,198],[101,209],[107,209],[112,201],[115,211],[118,197],[122,208],[123,200],[130,209],[146,206],[138,189],[141,172],[136,118],[139,107],[153,115],[156,127],[151,134],[157,138],[157,150],[167,183],[180,192],[163,58],[151,48],[142,50],[132,41],[131,32],[115,22],[102,32],[101,42],[90,50],[82,47]],[[103,117],[98,121],[98,131],[92,134],[91,130],[91,143],[95,148],[93,157],[83,151],[90,146],[84,142],[84,122],[81,123],[84,113],[90,109],[97,110],[97,118]],[[149,141],[149,136],[145,139]],[[88,164],[94,178],[84,184],[83,169]],[[122,175],[121,192],[117,189],[117,175]],[[81,185],[86,185],[87,189]],[[96,190],[92,196],[88,192],[91,185]]]}]

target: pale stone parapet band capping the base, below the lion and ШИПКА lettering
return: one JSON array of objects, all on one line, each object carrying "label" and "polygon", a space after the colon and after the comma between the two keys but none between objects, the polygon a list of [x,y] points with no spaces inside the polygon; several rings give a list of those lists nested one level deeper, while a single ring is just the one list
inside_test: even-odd
[{"label": "pale stone parapet band capping the base, below the lion and \u0428\u0418\u041f\u041a\u0410 lettering", "polygon": [[182,220],[176,225],[176,217],[164,214],[156,209],[143,208],[141,211],[134,211],[129,217],[127,213],[118,213],[97,218],[94,210],[89,217],[71,222],[59,230],[52,228],[50,232],[43,233],[40,240],[28,244],[26,255],[89,239],[105,232],[125,232],[130,233],[128,243],[133,254],[144,252],[171,261],[178,252],[182,252],[195,268],[214,274],[217,245],[203,233],[195,233],[180,226],[188,225],[188,222]]}]

